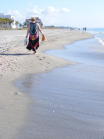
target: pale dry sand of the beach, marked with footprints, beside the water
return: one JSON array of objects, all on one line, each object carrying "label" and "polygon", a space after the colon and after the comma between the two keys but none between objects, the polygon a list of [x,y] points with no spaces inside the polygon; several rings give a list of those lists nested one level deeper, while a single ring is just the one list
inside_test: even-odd
[{"label": "pale dry sand of the beach, marked with footprints, beside the water", "polygon": [[[47,41],[40,42],[37,53],[25,49],[26,31],[0,31],[0,139],[15,139],[26,119],[31,100],[13,82],[25,74],[47,72],[55,67],[74,64],[48,56],[43,51],[62,49],[74,41],[92,37],[91,34],[66,29],[44,30]],[[2,53],[2,51],[4,51]]]}]

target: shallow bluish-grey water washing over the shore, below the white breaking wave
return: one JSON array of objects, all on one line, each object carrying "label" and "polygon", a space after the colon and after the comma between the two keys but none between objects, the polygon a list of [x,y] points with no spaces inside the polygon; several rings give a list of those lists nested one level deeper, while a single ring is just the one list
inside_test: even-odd
[{"label": "shallow bluish-grey water washing over the shore, below the white breaking wave", "polygon": [[104,53],[98,47],[89,39],[48,51],[78,64],[17,82],[33,99],[18,139],[104,139]]}]

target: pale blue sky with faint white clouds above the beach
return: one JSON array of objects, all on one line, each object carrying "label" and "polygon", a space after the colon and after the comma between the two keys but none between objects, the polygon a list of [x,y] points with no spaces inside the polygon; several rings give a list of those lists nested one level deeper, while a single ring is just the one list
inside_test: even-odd
[{"label": "pale blue sky with faint white clouds above the beach", "polygon": [[0,0],[0,13],[20,22],[38,16],[44,25],[104,27],[104,0]]}]

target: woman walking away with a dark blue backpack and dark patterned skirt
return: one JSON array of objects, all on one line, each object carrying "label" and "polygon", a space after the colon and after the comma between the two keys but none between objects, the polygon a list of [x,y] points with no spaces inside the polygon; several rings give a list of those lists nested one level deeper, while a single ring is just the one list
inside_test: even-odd
[{"label": "woman walking away with a dark blue backpack and dark patterned skirt", "polygon": [[26,38],[29,37],[29,42],[26,48],[28,50],[33,50],[34,54],[36,53],[36,50],[39,47],[39,32],[41,32],[42,36],[44,36],[40,28],[40,25],[36,23],[36,19],[32,17],[27,29]]}]

